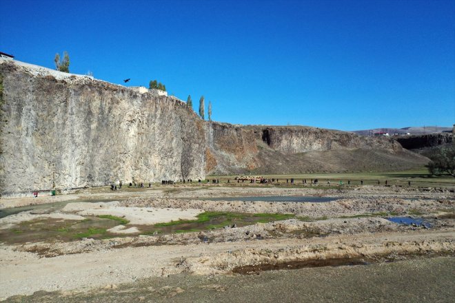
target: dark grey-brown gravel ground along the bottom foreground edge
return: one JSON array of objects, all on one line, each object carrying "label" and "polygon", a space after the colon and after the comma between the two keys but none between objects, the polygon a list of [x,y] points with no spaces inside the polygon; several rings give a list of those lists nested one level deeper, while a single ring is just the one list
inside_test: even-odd
[{"label": "dark grey-brown gravel ground along the bottom foreground edge", "polygon": [[38,292],[8,302],[452,302],[455,258],[368,266],[267,271],[259,275],[170,275],[83,293]]}]

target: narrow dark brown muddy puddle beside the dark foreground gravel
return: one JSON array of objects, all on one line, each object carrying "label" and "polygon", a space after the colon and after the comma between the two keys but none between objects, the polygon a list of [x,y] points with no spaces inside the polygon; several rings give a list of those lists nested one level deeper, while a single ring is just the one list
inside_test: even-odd
[{"label": "narrow dark brown muddy puddle beside the dark foreground gravel", "polygon": [[235,267],[232,269],[233,273],[240,273],[241,275],[252,275],[260,273],[261,271],[278,271],[281,269],[304,269],[310,267],[340,267],[352,265],[367,265],[370,264],[360,259],[325,259],[325,260],[305,260],[305,261],[291,261],[275,264],[259,264],[259,265],[245,265],[243,267]]}]

